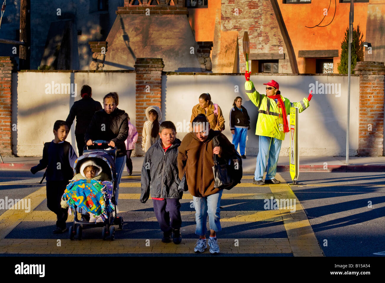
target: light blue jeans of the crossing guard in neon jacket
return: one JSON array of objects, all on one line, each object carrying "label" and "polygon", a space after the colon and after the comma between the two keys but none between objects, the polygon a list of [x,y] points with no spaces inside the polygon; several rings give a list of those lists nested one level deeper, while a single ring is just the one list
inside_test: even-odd
[{"label": "light blue jeans of the crossing guard in neon jacket", "polygon": [[256,181],[262,180],[267,167],[265,180],[275,178],[277,173],[278,156],[280,154],[282,140],[274,137],[259,136],[259,152],[254,173]]}]

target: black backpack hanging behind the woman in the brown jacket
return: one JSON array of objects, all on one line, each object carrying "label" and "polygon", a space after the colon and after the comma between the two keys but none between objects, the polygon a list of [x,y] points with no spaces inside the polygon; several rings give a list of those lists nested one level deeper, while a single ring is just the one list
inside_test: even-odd
[{"label": "black backpack hanging behind the woman in the brown jacket", "polygon": [[[219,131],[217,131],[219,132]],[[218,140],[218,135],[213,137],[213,147],[221,146]],[[214,154],[215,156],[216,154]],[[217,156],[216,156],[217,157]],[[215,158],[216,162],[221,165],[222,168],[227,169],[228,178],[231,179],[231,184],[227,184],[219,189],[230,190],[234,188],[237,184],[241,183],[242,179],[242,158],[239,155],[238,151],[235,151],[229,159],[224,158]]]}]

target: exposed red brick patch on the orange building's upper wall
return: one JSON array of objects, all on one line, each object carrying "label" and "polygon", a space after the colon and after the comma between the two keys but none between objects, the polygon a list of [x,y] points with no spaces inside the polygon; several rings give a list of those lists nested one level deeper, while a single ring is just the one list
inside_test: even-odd
[{"label": "exposed red brick patch on the orange building's upper wall", "polygon": [[285,59],[279,60],[279,72],[291,73],[291,65],[283,36],[270,1],[267,0],[222,0],[221,30],[238,30],[240,72],[246,71],[243,55],[243,33],[249,34],[250,53],[280,54],[283,48]]}]

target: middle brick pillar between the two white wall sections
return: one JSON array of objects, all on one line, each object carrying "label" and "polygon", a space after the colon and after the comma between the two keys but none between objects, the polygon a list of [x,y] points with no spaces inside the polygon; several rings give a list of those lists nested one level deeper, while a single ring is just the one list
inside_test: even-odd
[{"label": "middle brick pillar between the two white wall sections", "polygon": [[135,156],[143,156],[142,130],[147,121],[146,108],[155,105],[161,108],[162,70],[161,58],[137,58],[136,72],[136,129],[139,137],[135,144]]}]

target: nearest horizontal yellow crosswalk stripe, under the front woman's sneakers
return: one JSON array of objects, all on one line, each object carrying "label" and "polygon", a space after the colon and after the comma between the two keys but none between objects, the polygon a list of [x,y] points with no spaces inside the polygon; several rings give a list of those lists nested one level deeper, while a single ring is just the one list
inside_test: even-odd
[{"label": "nearest horizontal yellow crosswalk stripe, under the front woman's sneakers", "polygon": [[[115,232],[119,237],[119,230]],[[71,241],[61,239],[58,246],[57,239],[2,239],[0,240],[0,254],[154,254],[194,253],[197,239],[182,239],[182,243],[162,243],[160,239],[86,239]],[[146,245],[147,244],[147,245]],[[261,253],[291,253],[288,239],[218,239],[222,254],[261,254]],[[210,253],[206,249],[205,253]]]}]

